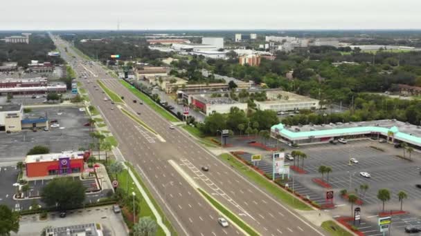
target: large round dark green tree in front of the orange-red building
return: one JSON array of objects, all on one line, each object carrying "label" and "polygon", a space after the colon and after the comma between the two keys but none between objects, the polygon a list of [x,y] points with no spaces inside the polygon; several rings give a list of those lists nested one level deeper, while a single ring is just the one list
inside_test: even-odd
[{"label": "large round dark green tree in front of the orange-red building", "polygon": [[42,188],[41,201],[48,207],[56,206],[60,210],[66,210],[82,205],[85,190],[86,187],[80,179],[58,177]]}]

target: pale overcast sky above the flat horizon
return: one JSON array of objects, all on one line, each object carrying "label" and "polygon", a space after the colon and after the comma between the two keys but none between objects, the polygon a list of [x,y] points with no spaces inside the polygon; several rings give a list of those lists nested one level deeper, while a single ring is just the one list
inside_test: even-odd
[{"label": "pale overcast sky above the flat horizon", "polygon": [[420,0],[5,0],[0,30],[420,29]]}]

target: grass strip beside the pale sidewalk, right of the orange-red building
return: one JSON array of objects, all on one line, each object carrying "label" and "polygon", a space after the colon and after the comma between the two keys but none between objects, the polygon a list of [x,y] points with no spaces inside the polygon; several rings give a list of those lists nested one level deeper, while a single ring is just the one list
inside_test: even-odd
[{"label": "grass strip beside the pale sidewalk, right of the orange-red building", "polygon": [[[136,193],[136,197],[138,199],[140,199],[139,200],[140,201],[139,206],[141,208],[141,212],[140,212],[139,215],[136,215],[136,219],[139,219],[141,217],[149,216],[156,221],[156,217],[152,213],[152,210],[150,209],[149,206],[147,206],[146,201],[143,200],[141,192],[138,190],[138,188],[132,188],[134,186],[132,184],[133,179],[132,179],[132,177],[130,177],[129,172],[127,170],[123,170],[123,172],[118,175],[117,179],[118,179],[118,183],[120,183],[118,188],[121,188],[127,195],[129,195],[129,194],[131,195],[131,193],[134,192],[134,193]],[[127,189],[127,187],[128,187],[128,189]],[[127,193],[127,191],[129,193]],[[165,233],[163,232],[161,227],[158,226],[157,229],[158,230],[156,230],[156,235],[159,235],[159,236],[165,235]]]}]

